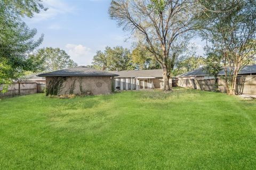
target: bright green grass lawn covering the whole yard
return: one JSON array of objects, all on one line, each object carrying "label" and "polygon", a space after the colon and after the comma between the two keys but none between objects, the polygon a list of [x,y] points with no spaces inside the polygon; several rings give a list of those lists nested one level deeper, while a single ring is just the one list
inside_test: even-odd
[{"label": "bright green grass lawn covering the whole yard", "polygon": [[1,169],[256,169],[256,101],[207,91],[0,100]]}]

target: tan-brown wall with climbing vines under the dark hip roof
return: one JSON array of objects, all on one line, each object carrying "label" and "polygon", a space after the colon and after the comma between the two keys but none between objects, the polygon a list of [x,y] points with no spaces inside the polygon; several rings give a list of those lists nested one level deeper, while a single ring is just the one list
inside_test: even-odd
[{"label": "tan-brown wall with climbing vines under the dark hip roof", "polygon": [[[49,95],[54,95],[53,88],[55,88],[58,96],[110,94],[111,80],[110,77],[46,77],[46,91]],[[56,82],[60,82],[58,83],[60,85],[54,84]],[[60,87],[59,90],[58,87]]]}]

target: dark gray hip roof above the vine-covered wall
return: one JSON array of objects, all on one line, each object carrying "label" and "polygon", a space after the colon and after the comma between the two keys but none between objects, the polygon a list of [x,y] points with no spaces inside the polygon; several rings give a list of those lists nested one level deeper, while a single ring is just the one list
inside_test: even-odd
[{"label": "dark gray hip roof above the vine-covered wall", "polygon": [[50,73],[43,73],[37,75],[38,77],[94,77],[94,76],[103,76],[103,77],[115,77],[118,74],[110,73],[107,71],[100,71],[93,69],[92,67],[87,66],[77,66],[71,69],[58,70]]}]

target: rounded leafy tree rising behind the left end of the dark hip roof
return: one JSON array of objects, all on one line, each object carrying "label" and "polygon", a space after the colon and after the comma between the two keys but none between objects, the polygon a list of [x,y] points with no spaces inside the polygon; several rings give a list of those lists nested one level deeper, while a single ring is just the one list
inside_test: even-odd
[{"label": "rounded leafy tree rising behind the left end of the dark hip roof", "polygon": [[60,48],[41,48],[31,58],[35,61],[42,61],[42,71],[56,71],[77,66],[65,50]]}]

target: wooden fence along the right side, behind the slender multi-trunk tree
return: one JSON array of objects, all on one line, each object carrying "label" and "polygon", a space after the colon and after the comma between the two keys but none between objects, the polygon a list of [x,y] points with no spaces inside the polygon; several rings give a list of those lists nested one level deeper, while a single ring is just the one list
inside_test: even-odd
[{"label": "wooden fence along the right side, behind the slender multi-trunk tree", "polygon": [[[198,89],[198,90],[214,90],[214,79],[179,79],[176,80],[180,87]],[[218,79],[218,90],[226,92],[225,80]],[[256,76],[242,76],[237,78],[236,92],[238,94],[256,95]]]}]

